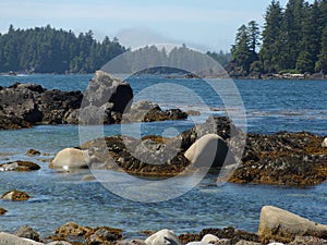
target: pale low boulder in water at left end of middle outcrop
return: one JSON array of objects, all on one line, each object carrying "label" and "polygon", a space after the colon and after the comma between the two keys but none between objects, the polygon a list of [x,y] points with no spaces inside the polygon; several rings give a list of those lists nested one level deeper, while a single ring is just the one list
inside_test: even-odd
[{"label": "pale low boulder in water at left end of middle outcrop", "polygon": [[87,151],[75,148],[60,150],[50,163],[52,169],[86,169],[89,163]]}]

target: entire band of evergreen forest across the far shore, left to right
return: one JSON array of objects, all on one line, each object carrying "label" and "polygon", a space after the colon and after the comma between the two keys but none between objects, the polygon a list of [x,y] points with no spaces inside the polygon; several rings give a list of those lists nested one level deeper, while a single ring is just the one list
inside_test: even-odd
[{"label": "entire band of evergreen forest across the far shore, left to right", "polygon": [[[326,79],[326,0],[315,0],[313,3],[289,0],[284,9],[279,1],[272,0],[264,14],[263,27],[251,21],[238,29],[230,52],[207,51],[202,56],[207,54],[217,61],[226,70],[220,74],[223,77],[228,73],[232,78]],[[94,73],[108,61],[129,51],[131,49],[120,45],[117,38],[96,40],[92,30],[75,35],[50,25],[29,29],[15,29],[10,25],[8,33],[0,34],[0,73]],[[177,46],[169,52],[156,46],[145,46],[135,52],[138,52],[135,57],[140,59],[128,64],[153,68],[162,63],[173,69],[185,68],[187,62],[186,68],[192,70],[196,64],[205,68],[201,56],[185,45]],[[147,53],[146,61],[141,53]],[[149,69],[147,72],[169,74],[169,69]],[[201,77],[213,75],[209,71],[198,72]],[[214,77],[220,76],[215,74]]]}]

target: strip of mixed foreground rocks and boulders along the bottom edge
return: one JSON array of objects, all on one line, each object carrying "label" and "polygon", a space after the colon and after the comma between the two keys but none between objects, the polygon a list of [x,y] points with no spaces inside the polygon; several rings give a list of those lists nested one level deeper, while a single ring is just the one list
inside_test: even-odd
[{"label": "strip of mixed foreground rocks and boulders along the bottom edge", "polygon": [[121,229],[110,226],[82,226],[68,222],[52,235],[40,237],[33,228],[23,225],[13,234],[0,232],[0,245],[324,245],[327,225],[318,224],[295,213],[272,206],[264,206],[257,233],[234,228],[203,229],[196,234],[177,235],[173,231],[140,232],[137,238],[124,237]]}]

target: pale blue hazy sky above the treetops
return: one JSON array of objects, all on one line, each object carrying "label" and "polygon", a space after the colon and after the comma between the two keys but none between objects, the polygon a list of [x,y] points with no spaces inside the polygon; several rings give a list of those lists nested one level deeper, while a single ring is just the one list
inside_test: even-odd
[{"label": "pale blue hazy sky above the treetops", "polygon": [[[252,20],[263,24],[271,0],[1,0],[0,32],[10,24],[29,28],[50,24],[95,37],[117,36],[128,47],[186,44],[227,51],[235,30]],[[282,7],[287,0],[281,0]]]}]

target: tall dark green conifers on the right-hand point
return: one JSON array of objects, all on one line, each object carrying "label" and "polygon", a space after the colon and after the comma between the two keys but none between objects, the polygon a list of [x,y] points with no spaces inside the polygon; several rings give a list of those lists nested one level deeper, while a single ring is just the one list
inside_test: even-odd
[{"label": "tall dark green conifers on the right-hand point", "polygon": [[227,65],[232,76],[327,74],[327,0],[289,0],[286,9],[274,0],[264,16],[262,32],[255,21],[238,29]]}]

